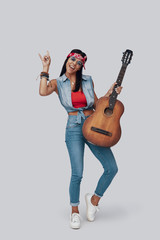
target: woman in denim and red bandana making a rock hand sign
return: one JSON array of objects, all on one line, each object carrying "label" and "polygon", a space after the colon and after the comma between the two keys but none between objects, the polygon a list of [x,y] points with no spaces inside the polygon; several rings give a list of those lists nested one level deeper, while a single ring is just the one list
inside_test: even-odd
[{"label": "woman in denim and red bandana making a rock hand sign", "polygon": [[[86,54],[79,49],[72,50],[64,62],[60,77],[49,81],[48,85],[47,80],[49,80],[48,72],[51,58],[48,51],[44,57],[40,54],[39,56],[43,64],[43,72],[41,72],[40,75],[39,94],[41,96],[47,96],[55,91],[61,104],[68,112],[65,142],[72,169],[69,187],[70,205],[72,207],[70,226],[71,228],[80,228],[81,218],[78,205],[80,203],[80,183],[83,177],[85,143],[104,168],[104,172],[98,181],[94,194],[87,193],[85,195],[87,219],[89,221],[94,221],[96,212],[99,210],[99,200],[116,175],[118,168],[110,148],[93,145],[88,142],[82,134],[83,123],[85,119],[94,112],[98,100],[91,76],[82,74],[82,70],[85,68],[85,62],[87,61]],[[112,93],[114,85],[115,83],[105,94],[106,97]],[[118,94],[121,92],[121,88],[122,87],[116,88]]]}]

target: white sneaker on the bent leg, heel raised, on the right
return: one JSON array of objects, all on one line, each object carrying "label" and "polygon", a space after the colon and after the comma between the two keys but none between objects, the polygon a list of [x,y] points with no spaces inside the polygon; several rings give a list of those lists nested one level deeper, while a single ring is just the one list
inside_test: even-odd
[{"label": "white sneaker on the bent leg, heel raised, on the right", "polygon": [[85,200],[86,200],[86,205],[87,205],[87,219],[90,222],[93,222],[96,216],[96,212],[99,211],[99,207],[98,206],[94,206],[91,203],[91,197],[92,194],[87,193],[85,195]]}]

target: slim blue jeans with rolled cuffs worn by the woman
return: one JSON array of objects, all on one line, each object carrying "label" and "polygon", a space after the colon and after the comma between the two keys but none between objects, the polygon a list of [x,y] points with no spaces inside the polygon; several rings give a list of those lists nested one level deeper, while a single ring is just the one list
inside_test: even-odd
[{"label": "slim blue jeans with rolled cuffs worn by the woman", "polygon": [[[85,116],[85,119],[89,116]],[[82,134],[82,126],[85,119],[82,118],[81,123],[76,123],[76,115],[68,115],[68,121],[65,132],[65,142],[67,145],[70,162],[71,162],[71,180],[69,186],[70,205],[79,205],[80,183],[83,177],[83,158],[84,146],[88,145],[94,156],[100,161],[104,168],[104,172],[100,177],[94,194],[102,197],[112,179],[118,171],[118,167],[109,147],[100,147],[88,142]],[[91,168],[92,169],[92,168]]]}]

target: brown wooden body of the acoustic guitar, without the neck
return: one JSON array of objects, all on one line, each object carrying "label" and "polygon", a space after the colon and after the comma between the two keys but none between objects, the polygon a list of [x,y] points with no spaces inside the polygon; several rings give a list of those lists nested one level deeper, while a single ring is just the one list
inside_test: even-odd
[{"label": "brown wooden body of the acoustic guitar, without the neck", "polygon": [[[84,137],[98,146],[111,147],[115,145],[121,137],[120,118],[123,112],[122,102],[116,100],[113,111],[110,111],[109,97],[99,98],[95,112],[83,124]],[[109,135],[94,131],[92,127],[106,131]]]}]

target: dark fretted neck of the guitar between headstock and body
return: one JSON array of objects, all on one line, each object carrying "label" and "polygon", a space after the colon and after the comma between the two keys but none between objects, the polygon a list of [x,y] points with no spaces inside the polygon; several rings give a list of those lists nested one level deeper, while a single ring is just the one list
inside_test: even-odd
[{"label": "dark fretted neck of the guitar between headstock and body", "polygon": [[124,74],[125,74],[125,71],[126,71],[126,68],[127,68],[127,65],[126,64],[122,64],[122,67],[120,69],[120,72],[118,74],[118,78],[117,78],[117,81],[116,81],[116,85],[114,86],[114,89],[113,89],[113,92],[109,98],[109,109],[113,110],[114,108],[114,105],[116,103],[116,99],[117,99],[117,92],[115,90],[115,88],[121,86],[122,84],[122,80],[124,78]]}]

